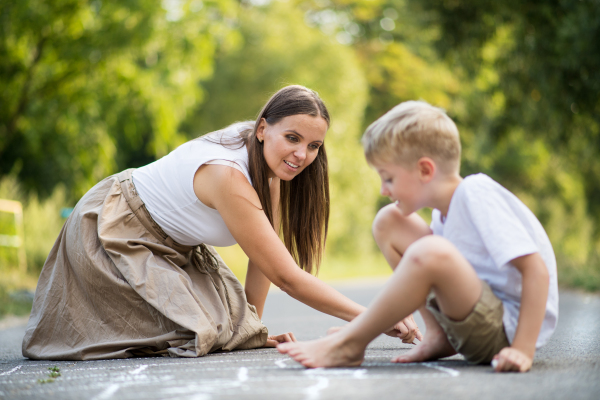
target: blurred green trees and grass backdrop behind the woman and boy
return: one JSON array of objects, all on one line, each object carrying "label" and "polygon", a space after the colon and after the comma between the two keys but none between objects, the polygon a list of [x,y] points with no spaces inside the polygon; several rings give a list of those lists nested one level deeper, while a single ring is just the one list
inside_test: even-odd
[{"label": "blurred green trees and grass backdrop behind the woman and boy", "polygon": [[[457,122],[461,174],[539,217],[560,284],[598,291],[598,71],[598,0],[0,0],[0,316],[28,312],[96,182],[255,119],[288,84],[332,115],[321,278],[390,273],[370,230],[388,200],[359,141],[423,99]],[[243,252],[218,251],[243,280]]]}]

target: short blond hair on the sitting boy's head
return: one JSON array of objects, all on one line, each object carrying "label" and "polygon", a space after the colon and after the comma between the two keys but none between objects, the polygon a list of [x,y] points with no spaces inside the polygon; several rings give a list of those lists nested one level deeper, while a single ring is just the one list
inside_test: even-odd
[{"label": "short blond hair on the sitting boy's head", "polygon": [[396,162],[408,168],[430,157],[443,172],[460,169],[460,139],[454,122],[441,108],[406,101],[373,122],[362,138],[369,164]]}]

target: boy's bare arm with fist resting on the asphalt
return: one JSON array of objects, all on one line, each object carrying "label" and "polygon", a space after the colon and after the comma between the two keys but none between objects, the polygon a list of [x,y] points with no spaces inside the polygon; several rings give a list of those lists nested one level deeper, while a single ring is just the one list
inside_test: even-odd
[{"label": "boy's bare arm with fist resting on the asphalt", "polygon": [[496,371],[526,372],[531,368],[535,344],[544,322],[550,277],[539,253],[515,258],[511,264],[523,277],[521,309],[512,345],[495,357]]}]

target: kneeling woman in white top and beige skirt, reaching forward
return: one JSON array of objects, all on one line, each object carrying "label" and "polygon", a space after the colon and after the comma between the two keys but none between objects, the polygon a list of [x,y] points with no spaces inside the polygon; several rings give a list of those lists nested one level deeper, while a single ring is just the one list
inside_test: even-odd
[{"label": "kneeling woman in white top and beige skirt, reaching forward", "polygon": [[[295,340],[268,336],[260,321],[270,282],[319,311],[356,317],[364,307],[309,273],[327,233],[328,128],[318,95],[288,86],[255,124],[98,183],[44,265],[23,355],[198,357]],[[250,260],[245,291],[210,246],[236,242]],[[412,342],[413,324],[394,334]]]}]

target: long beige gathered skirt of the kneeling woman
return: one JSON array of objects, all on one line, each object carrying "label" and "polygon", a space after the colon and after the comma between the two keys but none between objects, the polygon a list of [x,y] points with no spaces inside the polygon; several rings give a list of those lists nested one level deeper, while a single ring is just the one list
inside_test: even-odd
[{"label": "long beige gathered skirt of the kneeling woman", "polygon": [[127,170],[94,186],[63,226],[40,275],[23,355],[199,357],[266,340],[267,328],[215,250],[173,242]]}]

